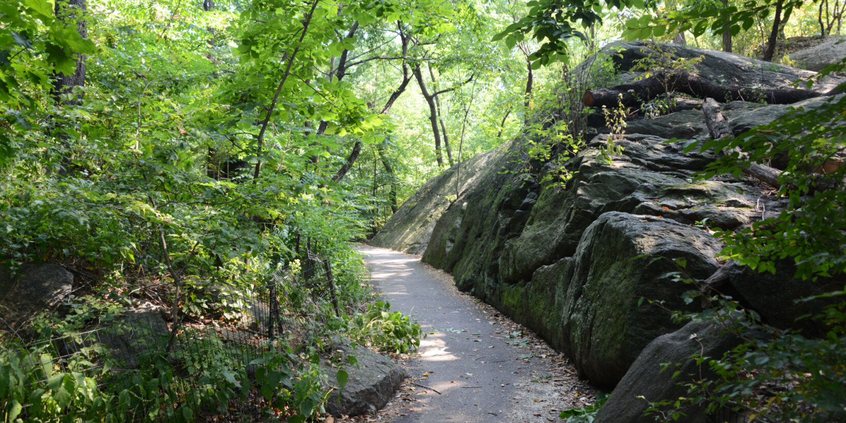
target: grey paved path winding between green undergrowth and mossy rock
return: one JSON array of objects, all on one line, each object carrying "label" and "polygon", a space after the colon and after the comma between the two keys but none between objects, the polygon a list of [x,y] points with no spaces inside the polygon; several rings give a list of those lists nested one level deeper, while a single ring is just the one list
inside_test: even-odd
[{"label": "grey paved path winding between green undergrowth and mossy rock", "polygon": [[428,333],[407,364],[411,382],[441,393],[410,385],[415,390],[396,399],[399,409],[386,413],[394,422],[558,422],[561,409],[592,403],[591,387],[563,356],[536,338],[509,338],[514,323],[459,293],[445,273],[415,255],[360,251],[391,309],[413,316]]}]

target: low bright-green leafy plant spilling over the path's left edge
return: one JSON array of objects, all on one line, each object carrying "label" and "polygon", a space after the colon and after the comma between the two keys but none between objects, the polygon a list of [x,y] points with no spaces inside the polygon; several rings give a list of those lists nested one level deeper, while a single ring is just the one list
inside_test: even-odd
[{"label": "low bright-green leafy plant spilling over the path's left edge", "polygon": [[395,353],[409,353],[420,346],[426,335],[420,325],[399,311],[391,311],[391,304],[378,300],[354,317],[352,333],[362,343]]}]

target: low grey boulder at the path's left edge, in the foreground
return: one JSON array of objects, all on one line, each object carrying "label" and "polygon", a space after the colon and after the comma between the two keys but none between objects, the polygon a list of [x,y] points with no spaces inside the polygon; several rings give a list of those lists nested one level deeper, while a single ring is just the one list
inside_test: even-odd
[{"label": "low grey boulder at the path's left edge, in the foreground", "polygon": [[406,377],[405,371],[382,354],[376,354],[361,345],[338,343],[335,346],[334,358],[346,363],[349,362],[349,355],[355,357],[356,364],[343,366],[343,370],[349,374],[343,388],[338,383],[339,368],[327,365],[331,360],[326,360],[322,365],[328,375],[326,388],[332,389],[326,410],[336,416],[375,415],[397,392]]}]

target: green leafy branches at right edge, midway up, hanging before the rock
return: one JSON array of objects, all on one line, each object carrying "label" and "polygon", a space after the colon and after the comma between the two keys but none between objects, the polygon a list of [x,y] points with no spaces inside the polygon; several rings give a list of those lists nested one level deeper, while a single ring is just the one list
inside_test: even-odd
[{"label": "green leafy branches at right edge, midway up, hanging before the rock", "polygon": [[[794,109],[782,118],[733,138],[692,142],[685,151],[696,146],[702,150],[715,148],[734,152],[706,167],[698,179],[717,173],[732,173],[752,162],[784,157],[786,165],[779,177],[779,191],[788,200],[787,210],[777,216],[755,222],[739,232],[718,232],[726,248],[723,254],[740,264],[761,272],[775,272],[775,261],[791,259],[797,266],[797,277],[803,279],[830,277],[846,272],[846,258],[838,245],[846,243],[843,205],[842,140],[846,137],[843,109],[846,98],[828,98],[820,107]],[[823,170],[832,163],[832,172]],[[820,173],[817,173],[820,172]],[[750,252],[754,251],[754,254]]]}]

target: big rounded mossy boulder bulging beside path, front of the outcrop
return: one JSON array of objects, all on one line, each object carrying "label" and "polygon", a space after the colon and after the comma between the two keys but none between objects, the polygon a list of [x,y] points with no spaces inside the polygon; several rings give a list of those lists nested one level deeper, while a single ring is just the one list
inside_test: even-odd
[{"label": "big rounded mossy boulder bulging beside path, front of the outcrop", "polygon": [[678,329],[667,310],[690,310],[682,295],[691,287],[669,273],[707,277],[721,247],[670,219],[611,211],[585,230],[573,257],[541,267],[528,283],[500,285],[492,303],[562,349],[580,376],[610,388],[646,344]]}]

